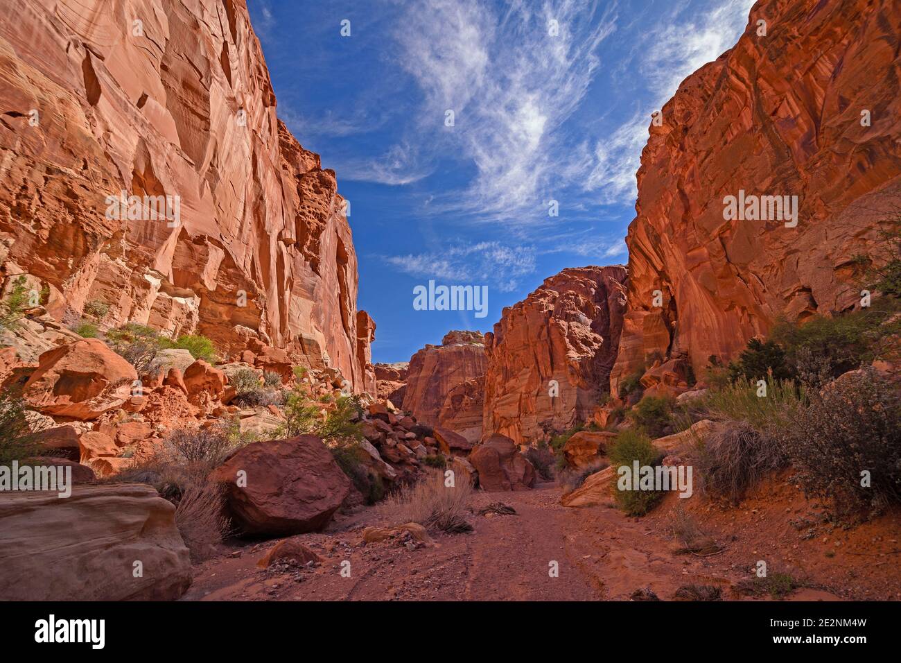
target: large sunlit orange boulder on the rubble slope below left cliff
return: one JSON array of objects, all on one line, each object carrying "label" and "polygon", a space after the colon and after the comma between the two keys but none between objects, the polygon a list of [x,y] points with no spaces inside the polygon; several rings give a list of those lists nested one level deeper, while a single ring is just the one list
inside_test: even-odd
[{"label": "large sunlit orange boulder on the rubble slope below left cliff", "polygon": [[132,399],[134,366],[97,338],[48,350],[25,383],[23,395],[43,414],[96,419]]}]

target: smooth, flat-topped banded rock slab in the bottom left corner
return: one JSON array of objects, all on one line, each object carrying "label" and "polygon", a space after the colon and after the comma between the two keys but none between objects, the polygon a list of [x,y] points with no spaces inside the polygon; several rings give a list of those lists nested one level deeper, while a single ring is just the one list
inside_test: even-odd
[{"label": "smooth, flat-topped banded rock slab in the bottom left corner", "polygon": [[[134,576],[140,561],[143,576]],[[0,596],[7,601],[171,601],[191,585],[175,507],[147,485],[76,485],[0,495]]]}]

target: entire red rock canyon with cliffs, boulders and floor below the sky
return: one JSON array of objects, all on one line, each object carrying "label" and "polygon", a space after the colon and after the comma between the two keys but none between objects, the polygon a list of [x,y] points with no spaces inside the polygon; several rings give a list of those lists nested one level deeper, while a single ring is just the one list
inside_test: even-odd
[{"label": "entire red rock canyon with cliffs, boulders and floor below the sky", "polygon": [[[780,466],[741,506],[698,491],[632,517],[615,509],[606,455],[642,398],[711,390],[712,357],[733,360],[783,318],[860,311],[857,256],[878,253],[901,209],[898,24],[890,2],[757,3],[735,46],[651,123],[627,265],[563,269],[492,331],[451,330],[408,362],[373,364],[340,173],[278,119],[243,0],[11,0],[0,277],[5,302],[29,296],[0,325],[0,385],[21,396],[26,437],[49,453],[38,460],[72,469],[75,486],[70,502],[0,495],[0,591],[681,600],[690,573],[741,599],[758,595],[747,576],[763,532],[774,566],[803,576],[796,598],[897,598],[896,509],[836,529]],[[724,214],[746,193],[796,195],[797,225]],[[128,197],[141,204],[111,213]],[[96,337],[77,332],[86,320]],[[130,354],[154,335],[205,337],[215,355]],[[848,374],[865,368],[897,386],[893,361]],[[722,423],[696,419],[649,436],[660,465]],[[323,421],[344,428],[329,437]],[[196,457],[166,465],[179,435],[241,442],[198,480]],[[469,502],[438,527],[410,500],[449,479]],[[675,546],[686,512],[723,557]],[[123,562],[135,551],[157,569],[141,580]],[[557,557],[566,575],[548,585]],[[367,571],[341,585],[332,570],[349,559]]]}]

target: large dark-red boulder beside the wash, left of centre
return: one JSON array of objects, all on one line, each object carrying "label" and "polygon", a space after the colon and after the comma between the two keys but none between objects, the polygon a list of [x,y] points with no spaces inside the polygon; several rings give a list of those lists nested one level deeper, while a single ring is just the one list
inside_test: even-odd
[{"label": "large dark-red boulder beside the wash, left of centre", "polygon": [[350,479],[312,435],[241,447],[213,478],[225,484],[232,520],[247,534],[323,529],[350,492]]}]

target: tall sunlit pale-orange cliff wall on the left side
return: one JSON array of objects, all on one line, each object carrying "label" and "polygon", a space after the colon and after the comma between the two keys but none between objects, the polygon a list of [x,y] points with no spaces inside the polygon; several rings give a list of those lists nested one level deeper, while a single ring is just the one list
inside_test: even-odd
[{"label": "tall sunlit pale-orange cliff wall on the left side", "polygon": [[196,331],[224,355],[259,338],[362,390],[373,326],[344,200],[278,120],[243,0],[5,14],[5,279],[46,287],[65,324],[102,302],[101,327]]}]

